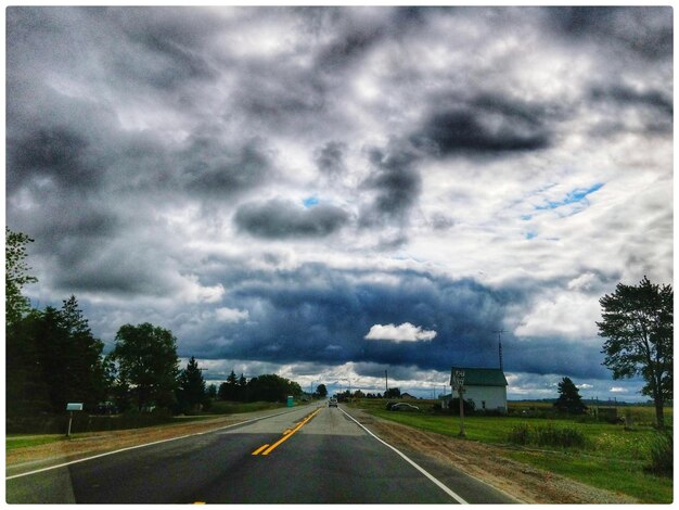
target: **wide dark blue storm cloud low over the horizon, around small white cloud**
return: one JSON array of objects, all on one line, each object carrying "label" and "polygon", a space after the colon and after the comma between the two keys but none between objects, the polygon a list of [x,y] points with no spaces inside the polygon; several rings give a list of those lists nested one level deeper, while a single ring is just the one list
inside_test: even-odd
[{"label": "wide dark blue storm cloud low over the horizon, around small white cloud", "polygon": [[[362,281],[363,277],[374,280],[380,276],[388,279],[384,283]],[[208,336],[229,339],[228,347],[204,346],[202,357],[330,365],[356,361],[423,370],[448,370],[454,364],[497,367],[494,330],[507,319],[510,307],[515,309],[529,297],[522,286],[492,289],[471,279],[452,280],[418,271],[368,273],[311,264],[276,273],[251,272],[247,280],[233,282],[232,289],[230,302],[249,307],[249,322],[212,331]],[[437,334],[421,342],[364,339],[374,324],[403,322]],[[591,348],[574,344],[572,349],[559,352],[554,350],[555,342],[517,341],[505,335],[505,368],[604,374],[597,342]]]}]

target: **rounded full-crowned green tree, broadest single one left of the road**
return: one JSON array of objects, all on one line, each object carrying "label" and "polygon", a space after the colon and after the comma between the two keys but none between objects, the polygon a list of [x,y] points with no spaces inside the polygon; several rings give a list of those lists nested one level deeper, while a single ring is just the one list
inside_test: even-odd
[{"label": "rounded full-crowned green tree, broadest single one left of the road", "polygon": [[117,385],[139,410],[171,408],[179,360],[177,340],[169,330],[149,322],[120,327],[111,359],[117,365]]}]

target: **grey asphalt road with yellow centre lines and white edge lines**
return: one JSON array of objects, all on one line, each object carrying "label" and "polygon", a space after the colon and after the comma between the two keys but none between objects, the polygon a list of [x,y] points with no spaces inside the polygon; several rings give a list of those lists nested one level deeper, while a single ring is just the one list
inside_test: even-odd
[{"label": "grey asphalt road with yellow centre lines and white edge lines", "polygon": [[511,502],[460,472],[427,469],[342,406],[316,405],[8,476],[5,486],[10,503]]}]

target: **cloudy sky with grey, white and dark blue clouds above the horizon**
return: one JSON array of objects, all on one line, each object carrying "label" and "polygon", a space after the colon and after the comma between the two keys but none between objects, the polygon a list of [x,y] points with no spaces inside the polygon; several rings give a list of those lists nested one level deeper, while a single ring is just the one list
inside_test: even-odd
[{"label": "cloudy sky with grey, white and dark blue clouds above the horizon", "polygon": [[599,298],[672,282],[670,8],[9,8],[35,305],[213,381],[640,399]]}]

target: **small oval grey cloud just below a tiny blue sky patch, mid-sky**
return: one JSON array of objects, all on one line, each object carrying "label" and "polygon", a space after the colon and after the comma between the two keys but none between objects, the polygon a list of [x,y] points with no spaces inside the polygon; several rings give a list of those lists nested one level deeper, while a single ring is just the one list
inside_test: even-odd
[{"label": "small oval grey cloud just below a tiny blue sky patch, mid-sky", "polygon": [[248,203],[239,207],[235,225],[259,238],[323,238],[340,230],[348,215],[333,205],[303,208],[290,201],[274,199],[264,203]]}]

